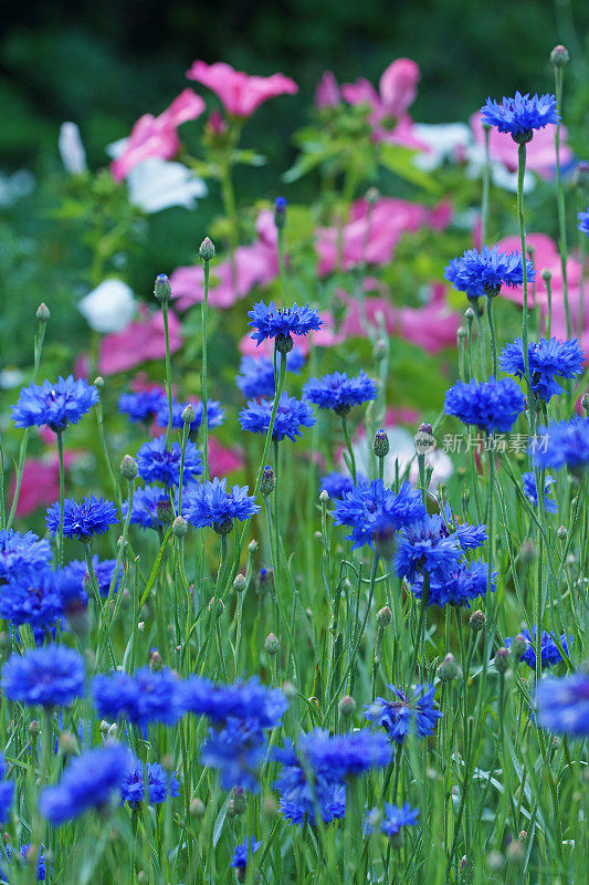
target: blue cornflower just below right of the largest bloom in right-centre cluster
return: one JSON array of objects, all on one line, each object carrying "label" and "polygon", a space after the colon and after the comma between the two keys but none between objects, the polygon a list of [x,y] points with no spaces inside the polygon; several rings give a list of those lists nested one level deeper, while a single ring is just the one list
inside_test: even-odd
[{"label": "blue cornflower just below right of the largest bloom in right-centre cluster", "polygon": [[440,517],[425,516],[399,532],[395,568],[399,577],[414,581],[418,573],[443,581],[456,568],[462,548],[456,533],[442,531]]}]

